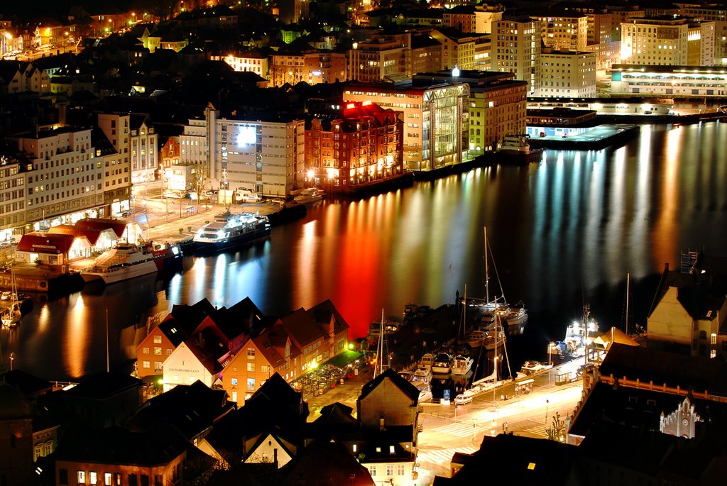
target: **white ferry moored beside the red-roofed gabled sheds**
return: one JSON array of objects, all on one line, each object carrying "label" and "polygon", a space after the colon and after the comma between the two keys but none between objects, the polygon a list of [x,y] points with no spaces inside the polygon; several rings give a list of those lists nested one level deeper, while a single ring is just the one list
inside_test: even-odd
[{"label": "white ferry moored beside the red-roofed gabled sheds", "polygon": [[182,251],[177,245],[117,243],[98,256],[91,267],[82,270],[81,277],[86,282],[99,279],[106,284],[122,282],[162,270],[166,259],[181,258]]}]

